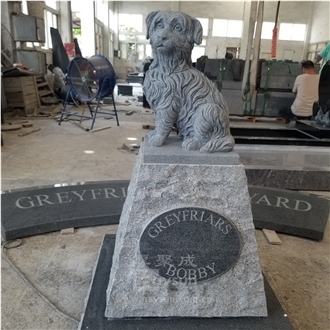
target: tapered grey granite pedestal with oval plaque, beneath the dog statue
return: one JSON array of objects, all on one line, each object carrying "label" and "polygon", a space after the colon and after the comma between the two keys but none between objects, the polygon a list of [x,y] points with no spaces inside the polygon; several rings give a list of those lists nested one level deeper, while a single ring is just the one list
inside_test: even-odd
[{"label": "tapered grey granite pedestal with oval plaque, beneath the dog statue", "polygon": [[244,167],[145,141],[118,228],[108,318],[267,316]]}]

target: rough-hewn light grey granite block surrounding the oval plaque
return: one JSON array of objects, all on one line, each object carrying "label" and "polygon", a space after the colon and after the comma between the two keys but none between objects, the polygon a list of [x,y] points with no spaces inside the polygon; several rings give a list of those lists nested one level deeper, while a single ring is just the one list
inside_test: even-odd
[{"label": "rough-hewn light grey granite block surrounding the oval plaque", "polygon": [[[209,165],[205,158],[205,164],[199,165],[175,163],[175,159],[147,163],[146,149],[144,141],[120,219],[106,317],[267,316],[243,165]],[[240,255],[221,276],[194,284],[175,282],[146,265],[139,249],[144,229],[159,214],[181,207],[209,209],[235,225],[241,238]],[[196,242],[205,239],[203,233],[195,234]]]}]

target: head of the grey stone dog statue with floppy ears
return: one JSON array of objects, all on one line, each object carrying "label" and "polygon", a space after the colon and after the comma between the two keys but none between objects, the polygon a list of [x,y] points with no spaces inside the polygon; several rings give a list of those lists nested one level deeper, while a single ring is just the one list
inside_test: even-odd
[{"label": "head of the grey stone dog statue with floppy ears", "polygon": [[[201,23],[187,14],[175,11],[154,11],[146,18],[147,39],[153,51],[155,63],[191,66],[194,44],[203,38]],[[183,64],[184,63],[184,64]]]}]

